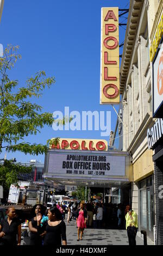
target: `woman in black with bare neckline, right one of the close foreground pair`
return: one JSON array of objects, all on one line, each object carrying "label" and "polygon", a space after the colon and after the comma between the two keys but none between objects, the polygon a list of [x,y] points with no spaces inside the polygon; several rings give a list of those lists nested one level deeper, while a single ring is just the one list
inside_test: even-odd
[{"label": "woman in black with bare neckline, right one of the close foreground pair", "polygon": [[[37,215],[37,231],[38,234],[42,234],[46,231],[43,246],[61,246],[67,245],[66,242],[66,224],[62,220],[62,215],[57,207],[52,207],[48,209],[48,221],[43,223],[41,227],[42,215],[39,213]],[[62,240],[62,242],[61,242]]]}]

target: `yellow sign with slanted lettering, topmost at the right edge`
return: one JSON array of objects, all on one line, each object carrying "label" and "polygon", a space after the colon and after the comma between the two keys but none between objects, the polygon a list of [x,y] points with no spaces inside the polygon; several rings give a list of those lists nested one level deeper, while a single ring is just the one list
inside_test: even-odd
[{"label": "yellow sign with slanted lettering, topmost at the right edge", "polygon": [[150,56],[151,62],[153,61],[155,53],[159,47],[159,43],[160,43],[162,35],[163,35],[163,13],[161,16],[161,20],[160,20],[158,26],[156,27],[155,36],[154,36],[154,39],[151,43],[151,47],[149,50],[149,56]]}]

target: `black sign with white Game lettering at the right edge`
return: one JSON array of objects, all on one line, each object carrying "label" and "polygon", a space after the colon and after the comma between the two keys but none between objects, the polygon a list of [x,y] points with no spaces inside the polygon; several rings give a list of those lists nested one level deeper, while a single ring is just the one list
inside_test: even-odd
[{"label": "black sign with white Game lettering at the right edge", "polygon": [[155,144],[163,137],[163,119],[158,118],[151,129],[147,130],[148,149],[153,149]]}]

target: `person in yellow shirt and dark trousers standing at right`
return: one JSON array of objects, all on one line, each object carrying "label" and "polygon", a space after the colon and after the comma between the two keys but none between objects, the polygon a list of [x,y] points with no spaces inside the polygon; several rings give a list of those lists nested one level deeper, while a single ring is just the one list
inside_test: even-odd
[{"label": "person in yellow shirt and dark trousers standing at right", "polygon": [[125,218],[129,245],[136,245],[136,233],[138,229],[137,214],[130,207]]}]

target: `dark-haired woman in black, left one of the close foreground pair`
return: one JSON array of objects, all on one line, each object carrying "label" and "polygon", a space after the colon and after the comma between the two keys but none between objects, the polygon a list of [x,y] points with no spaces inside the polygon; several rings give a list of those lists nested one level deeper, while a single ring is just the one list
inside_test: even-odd
[{"label": "dark-haired woman in black, left one of the close foreground pair", "polygon": [[[41,246],[43,236],[45,236],[45,232],[42,234],[37,233],[37,214],[41,213],[42,218],[44,218],[45,209],[43,208],[42,204],[35,204],[31,211],[32,218],[29,220],[29,230],[30,230],[30,239],[29,245]],[[42,221],[42,220],[41,220]]]}]

